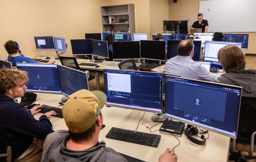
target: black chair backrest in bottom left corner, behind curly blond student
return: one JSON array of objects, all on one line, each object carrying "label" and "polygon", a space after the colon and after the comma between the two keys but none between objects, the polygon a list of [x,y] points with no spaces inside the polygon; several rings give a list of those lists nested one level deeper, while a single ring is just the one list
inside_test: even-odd
[{"label": "black chair backrest in bottom left corner, behind curly blond student", "polygon": [[10,140],[0,132],[0,161],[11,162],[13,160]]}]

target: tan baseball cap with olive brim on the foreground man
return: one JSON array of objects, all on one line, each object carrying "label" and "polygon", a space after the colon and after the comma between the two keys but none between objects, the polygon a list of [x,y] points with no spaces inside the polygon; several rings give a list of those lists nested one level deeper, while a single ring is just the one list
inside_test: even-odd
[{"label": "tan baseball cap with olive brim on the foreground man", "polygon": [[102,91],[79,90],[68,97],[62,113],[70,132],[82,133],[95,124],[107,97]]}]

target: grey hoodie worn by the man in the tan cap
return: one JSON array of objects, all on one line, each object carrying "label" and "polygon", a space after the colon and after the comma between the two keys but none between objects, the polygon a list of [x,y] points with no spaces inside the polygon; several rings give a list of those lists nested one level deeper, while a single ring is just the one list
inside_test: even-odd
[{"label": "grey hoodie worn by the man in the tan cap", "polygon": [[118,152],[106,147],[104,141],[87,150],[73,151],[66,147],[69,139],[67,130],[50,133],[45,139],[41,162],[127,162]]}]

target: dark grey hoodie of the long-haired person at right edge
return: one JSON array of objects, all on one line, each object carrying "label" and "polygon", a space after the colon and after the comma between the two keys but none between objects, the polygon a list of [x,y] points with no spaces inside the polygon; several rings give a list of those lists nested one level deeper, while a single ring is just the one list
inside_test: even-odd
[{"label": "dark grey hoodie of the long-haired person at right edge", "polygon": [[256,97],[256,69],[231,70],[213,82],[243,87],[243,96]]}]

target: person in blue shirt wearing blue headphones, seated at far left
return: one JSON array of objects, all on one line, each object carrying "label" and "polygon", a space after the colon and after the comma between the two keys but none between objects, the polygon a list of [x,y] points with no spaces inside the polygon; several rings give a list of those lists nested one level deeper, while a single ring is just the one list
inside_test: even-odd
[{"label": "person in blue shirt wearing blue headphones, seated at far left", "polygon": [[[3,46],[9,54],[7,60],[12,62],[13,66],[16,66],[16,63],[22,63],[24,61],[26,63],[39,63],[31,58],[25,57],[24,52],[19,49],[19,44],[15,41],[7,41]],[[54,64],[54,61],[49,61],[47,64]]]}]

